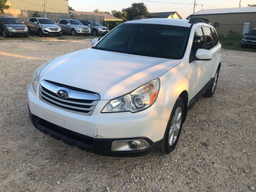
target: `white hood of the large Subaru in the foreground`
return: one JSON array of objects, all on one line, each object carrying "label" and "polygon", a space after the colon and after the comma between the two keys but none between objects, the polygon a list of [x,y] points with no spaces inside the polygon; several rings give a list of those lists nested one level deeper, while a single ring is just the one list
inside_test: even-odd
[{"label": "white hood of the large Subaru in the foreground", "polygon": [[88,48],[54,59],[40,75],[68,86],[97,92],[113,99],[160,77],[179,60],[138,56]]}]

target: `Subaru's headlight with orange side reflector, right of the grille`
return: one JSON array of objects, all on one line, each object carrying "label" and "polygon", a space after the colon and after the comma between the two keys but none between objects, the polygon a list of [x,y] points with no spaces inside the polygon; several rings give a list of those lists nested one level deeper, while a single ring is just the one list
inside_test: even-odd
[{"label": "Subaru's headlight with orange side reflector, right of the grille", "polygon": [[159,88],[160,80],[154,79],[124,96],[109,101],[101,112],[130,111],[134,113],[144,110],[156,101]]}]

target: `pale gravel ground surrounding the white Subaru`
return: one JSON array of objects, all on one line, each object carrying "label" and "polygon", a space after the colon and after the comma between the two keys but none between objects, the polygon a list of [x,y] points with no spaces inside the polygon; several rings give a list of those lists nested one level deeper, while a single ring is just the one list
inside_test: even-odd
[{"label": "pale gravel ground surrounding the white Subaru", "polygon": [[42,135],[29,121],[27,86],[42,63],[90,40],[0,42],[0,191],[254,191],[256,53],[223,50],[214,97],[188,112],[174,152],[97,156]]}]

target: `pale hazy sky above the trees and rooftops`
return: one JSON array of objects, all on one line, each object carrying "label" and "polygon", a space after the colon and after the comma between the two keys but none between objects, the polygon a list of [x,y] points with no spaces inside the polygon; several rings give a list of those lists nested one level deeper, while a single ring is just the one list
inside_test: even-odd
[{"label": "pale hazy sky above the trees and rooftops", "polygon": [[[153,2],[149,2],[153,1]],[[195,12],[202,9],[232,8],[239,7],[240,0],[196,0]],[[182,18],[193,13],[194,0],[68,0],[68,5],[76,11],[92,12],[98,8],[100,11],[118,10],[127,8],[132,3],[144,2],[149,12],[171,12],[178,11]],[[256,0],[241,0],[241,7],[248,4],[256,4]]]}]

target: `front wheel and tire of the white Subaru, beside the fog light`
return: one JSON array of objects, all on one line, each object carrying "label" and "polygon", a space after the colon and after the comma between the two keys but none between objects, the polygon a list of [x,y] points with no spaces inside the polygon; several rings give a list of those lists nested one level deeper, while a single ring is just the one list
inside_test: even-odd
[{"label": "front wheel and tire of the white Subaru, beside the fog light", "polygon": [[182,98],[178,97],[172,109],[170,118],[168,120],[168,124],[164,133],[164,138],[161,142],[160,152],[162,154],[170,154],[170,152],[172,152],[175,149],[180,138],[180,132],[182,129],[184,117],[184,103]]}]

